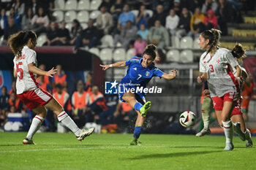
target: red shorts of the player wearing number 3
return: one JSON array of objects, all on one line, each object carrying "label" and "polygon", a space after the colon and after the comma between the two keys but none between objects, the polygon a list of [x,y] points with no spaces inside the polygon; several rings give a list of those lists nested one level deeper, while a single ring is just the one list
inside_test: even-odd
[{"label": "red shorts of the player wearing number 3", "polygon": [[212,100],[214,101],[214,109],[217,111],[222,110],[224,101],[237,101],[237,95],[238,94],[236,92],[230,92],[225,93],[225,95],[222,97],[213,97]]}]

